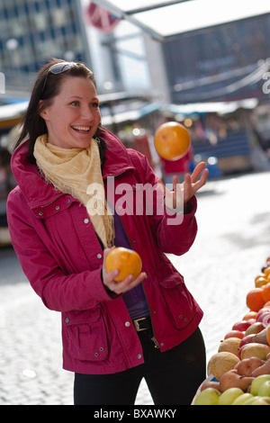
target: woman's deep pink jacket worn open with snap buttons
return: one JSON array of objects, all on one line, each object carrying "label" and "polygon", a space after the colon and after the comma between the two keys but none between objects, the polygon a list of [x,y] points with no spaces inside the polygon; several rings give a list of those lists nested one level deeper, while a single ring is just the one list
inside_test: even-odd
[{"label": "woman's deep pink jacket worn open with snap buttons", "polygon": [[[116,190],[120,184],[130,186],[130,198],[138,184],[156,184],[144,156],[124,148],[110,133],[104,138],[109,143],[103,166],[105,189],[112,175]],[[46,307],[62,313],[64,369],[111,374],[142,364],[139,338],[121,295],[112,298],[104,289],[103,249],[85,207],[46,184],[37,167],[26,161],[26,151],[27,141],[12,158],[18,186],[8,197],[9,229],[32,288]],[[121,195],[115,194],[116,208],[121,207]],[[166,210],[157,215],[126,212],[121,216],[148,275],[143,287],[161,351],[188,338],[202,320],[202,310],[186,289],[183,276],[164,254],[182,255],[192,246],[197,231],[195,197],[190,205],[191,212],[177,226],[167,225],[171,215]]]}]

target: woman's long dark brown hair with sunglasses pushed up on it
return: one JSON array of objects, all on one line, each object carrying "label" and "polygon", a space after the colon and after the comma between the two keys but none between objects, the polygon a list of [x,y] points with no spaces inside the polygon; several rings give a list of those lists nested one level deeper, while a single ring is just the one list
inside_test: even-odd
[{"label": "woman's long dark brown hair with sunglasses pushed up on it", "polygon": [[[40,112],[45,107],[48,107],[52,103],[53,98],[59,94],[61,81],[67,76],[83,76],[86,79],[92,81],[94,86],[96,87],[94,73],[90,69],[85,67],[83,63],[72,63],[72,66],[68,70],[57,75],[49,72],[50,67],[52,67],[56,63],[61,62],[64,63],[65,60],[54,58],[47,65],[40,69],[40,72],[38,73],[38,76],[32,88],[28,108],[23,116],[20,137],[19,139],[17,139],[14,145],[15,149],[19,147],[19,145],[23,142],[24,139],[29,139],[28,159],[31,163],[35,163],[33,149],[36,139],[40,135],[43,135],[44,133],[48,132],[46,123],[43,118],[41,118]],[[41,108],[40,100],[43,100]],[[104,151],[106,148],[105,141],[103,141],[102,139],[103,130],[104,129],[99,126],[94,134],[94,138],[97,139],[100,148],[102,164],[104,159]]]}]

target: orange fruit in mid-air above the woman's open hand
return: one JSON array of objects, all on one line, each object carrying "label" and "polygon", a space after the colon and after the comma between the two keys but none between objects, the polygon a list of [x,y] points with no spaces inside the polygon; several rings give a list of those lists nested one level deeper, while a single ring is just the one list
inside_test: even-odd
[{"label": "orange fruit in mid-air above the woman's open hand", "polygon": [[154,142],[160,157],[178,160],[189,150],[191,138],[184,125],[177,121],[168,121],[157,128]]}]

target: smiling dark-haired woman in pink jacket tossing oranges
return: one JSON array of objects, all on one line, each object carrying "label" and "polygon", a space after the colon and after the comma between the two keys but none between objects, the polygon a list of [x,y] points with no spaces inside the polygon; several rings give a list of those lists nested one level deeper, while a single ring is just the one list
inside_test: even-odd
[{"label": "smiling dark-haired woman in pink jacket tossing oranges", "polygon": [[[202,310],[166,253],[193,244],[203,166],[185,176],[179,212],[177,178],[174,192],[163,191],[147,159],[101,126],[93,73],[58,59],[40,70],[12,158],[18,185],[7,215],[23,272],[62,313],[75,404],[133,404],[143,377],[156,404],[189,404],[202,383]],[[153,212],[144,203],[136,212],[141,186],[155,188]],[[115,283],[118,271],[106,272],[113,246],[139,253],[136,279]]]}]

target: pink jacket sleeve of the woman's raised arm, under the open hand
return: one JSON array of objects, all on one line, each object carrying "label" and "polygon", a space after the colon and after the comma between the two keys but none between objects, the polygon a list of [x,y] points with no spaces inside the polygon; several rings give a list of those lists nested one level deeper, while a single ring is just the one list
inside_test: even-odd
[{"label": "pink jacket sleeve of the woman's raised arm, under the open hand", "polygon": [[[157,175],[155,175],[153,169],[149,166],[148,159],[138,152],[136,154],[131,153],[131,157],[141,183],[149,183],[157,187]],[[157,187],[155,191],[156,208],[154,207],[153,209],[153,215],[148,216],[151,220],[153,235],[156,237],[158,247],[164,253],[181,256],[192,247],[193,241],[196,238],[196,197],[193,196],[188,202],[187,212],[177,214],[166,208],[164,195],[161,193],[160,188]]]}]

